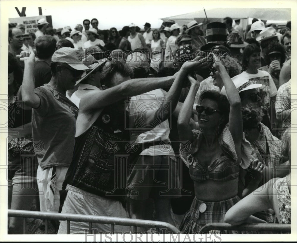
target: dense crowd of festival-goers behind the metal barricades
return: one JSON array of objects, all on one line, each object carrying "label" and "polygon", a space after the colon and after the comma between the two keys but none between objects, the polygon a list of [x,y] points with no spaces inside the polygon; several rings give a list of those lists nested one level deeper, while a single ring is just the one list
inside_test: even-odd
[{"label": "dense crowd of festival-goers behind the metal barricades", "polygon": [[[35,34],[10,24],[8,208],[182,233],[290,224],[291,22],[277,32],[253,19],[246,33],[222,22],[145,23],[143,34],[134,23],[100,30],[96,18],[73,30],[40,19]],[[66,221],[50,223],[66,234]],[[8,221],[9,234],[42,226]],[[87,228],[70,223],[71,234]]]}]

